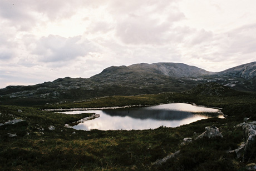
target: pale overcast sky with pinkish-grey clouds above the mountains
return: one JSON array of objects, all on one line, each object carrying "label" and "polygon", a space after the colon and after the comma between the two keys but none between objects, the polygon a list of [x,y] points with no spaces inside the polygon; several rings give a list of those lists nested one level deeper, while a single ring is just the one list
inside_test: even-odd
[{"label": "pale overcast sky with pinkish-grey clouds above the mountains", "polygon": [[255,0],[1,0],[0,88],[135,63],[218,72],[254,62],[255,7]]}]

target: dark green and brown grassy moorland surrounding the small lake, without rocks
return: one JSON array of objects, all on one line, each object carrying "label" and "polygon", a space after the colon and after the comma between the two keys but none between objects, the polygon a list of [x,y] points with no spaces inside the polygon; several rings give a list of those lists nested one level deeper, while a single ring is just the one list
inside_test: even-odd
[{"label": "dark green and brown grassy moorland surrounding the small lake, without rocks", "polygon": [[[23,122],[0,126],[1,170],[243,170],[241,163],[228,150],[243,140],[242,129],[235,127],[244,117],[256,120],[256,98],[250,94],[232,96],[194,96],[162,93],[137,96],[114,96],[85,102],[63,103],[40,108],[112,107],[149,105],[166,102],[194,102],[199,105],[221,107],[227,119],[210,118],[177,128],[159,127],[148,130],[74,130],[66,123],[90,114],[66,115],[32,107],[0,105],[0,123],[14,118]],[[23,112],[18,112],[18,109]],[[49,130],[53,125],[55,130]],[[199,139],[180,146],[183,138],[204,132],[215,125],[222,139]],[[75,132],[75,133],[74,133]],[[17,134],[9,137],[9,133]],[[196,135],[194,134],[196,133]],[[181,150],[178,158],[161,167],[152,167],[157,159]]]}]

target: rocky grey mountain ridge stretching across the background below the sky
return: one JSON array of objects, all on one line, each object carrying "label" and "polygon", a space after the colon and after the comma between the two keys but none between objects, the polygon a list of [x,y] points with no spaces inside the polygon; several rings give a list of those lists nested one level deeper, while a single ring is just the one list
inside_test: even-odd
[{"label": "rocky grey mountain ridge stretching across the background below the sky", "polygon": [[58,78],[34,86],[0,89],[1,104],[34,105],[86,100],[107,95],[184,92],[201,83],[219,83],[256,92],[256,62],[222,72],[208,72],[183,63],[133,64],[109,67],[91,78]]}]

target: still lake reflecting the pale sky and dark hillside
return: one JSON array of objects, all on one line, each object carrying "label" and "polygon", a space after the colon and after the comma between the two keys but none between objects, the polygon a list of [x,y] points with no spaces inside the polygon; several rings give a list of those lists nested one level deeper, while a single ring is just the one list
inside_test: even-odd
[{"label": "still lake reflecting the pale sky and dark hillside", "polygon": [[76,110],[63,113],[76,114],[85,112],[100,114],[100,118],[75,125],[74,129],[155,129],[162,125],[165,127],[179,127],[180,125],[189,124],[200,119],[222,118],[219,109],[198,107],[187,103],[169,103],[125,109]]}]

